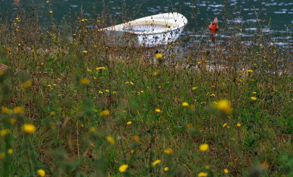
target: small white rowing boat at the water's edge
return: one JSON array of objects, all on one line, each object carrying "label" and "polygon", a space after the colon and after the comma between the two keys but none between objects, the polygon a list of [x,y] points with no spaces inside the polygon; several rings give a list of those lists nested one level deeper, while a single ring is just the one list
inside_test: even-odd
[{"label": "small white rowing boat at the water's edge", "polygon": [[110,43],[109,45],[153,47],[176,41],[187,22],[182,14],[173,12],[152,15],[101,30],[106,34],[104,42]]}]

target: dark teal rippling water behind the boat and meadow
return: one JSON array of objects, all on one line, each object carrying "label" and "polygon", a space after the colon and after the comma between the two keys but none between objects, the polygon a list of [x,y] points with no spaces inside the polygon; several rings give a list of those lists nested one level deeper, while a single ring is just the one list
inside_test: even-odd
[{"label": "dark teal rippling water behind the boat and meadow", "polygon": [[[80,17],[81,9],[83,18],[90,18],[95,14],[101,16],[102,13],[105,13],[111,19],[118,19],[119,22],[125,19],[123,18],[126,15],[125,12],[128,13],[127,17],[131,17],[129,20],[133,20],[176,11],[187,17],[188,27],[185,34],[193,35],[194,38],[200,37],[194,35],[194,31],[200,34],[201,31],[207,29],[207,23],[217,16],[220,28],[235,22],[240,24],[242,37],[250,37],[250,31],[259,29],[258,22],[261,22],[259,20],[265,20],[263,32],[265,34],[277,33],[274,39],[280,38],[280,45],[283,45],[282,36],[288,36],[286,33],[291,30],[290,24],[293,23],[293,1],[291,0],[105,0],[105,4],[103,0],[84,0],[82,2],[80,0],[50,0],[50,2],[53,18],[57,21],[68,17],[70,12],[72,16],[75,16],[75,12],[77,12]],[[17,4],[34,6],[42,14],[48,14],[49,11],[49,4],[46,3],[46,0],[0,0],[0,11],[9,8],[15,12],[18,9]],[[103,11],[104,6],[106,11]],[[95,7],[95,12],[92,7]],[[43,16],[43,18],[49,18],[49,16]],[[209,37],[209,35],[203,36]],[[229,38],[229,32],[219,37]],[[291,37],[287,38],[287,43],[293,43]]]}]

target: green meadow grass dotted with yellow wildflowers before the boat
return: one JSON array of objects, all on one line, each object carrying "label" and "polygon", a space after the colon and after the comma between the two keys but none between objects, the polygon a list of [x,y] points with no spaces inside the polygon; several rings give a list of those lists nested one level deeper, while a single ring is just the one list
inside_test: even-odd
[{"label": "green meadow grass dotted with yellow wildflowers before the boat", "polygon": [[105,16],[60,27],[30,13],[1,19],[1,176],[293,175],[286,37],[241,42],[233,23],[226,41],[113,47],[86,27]]}]

